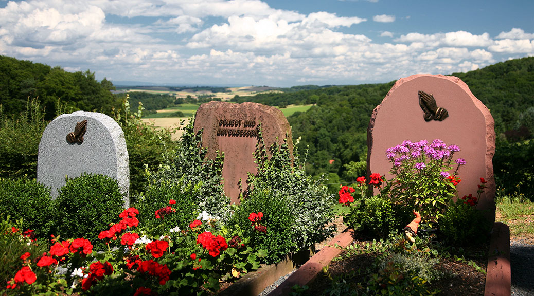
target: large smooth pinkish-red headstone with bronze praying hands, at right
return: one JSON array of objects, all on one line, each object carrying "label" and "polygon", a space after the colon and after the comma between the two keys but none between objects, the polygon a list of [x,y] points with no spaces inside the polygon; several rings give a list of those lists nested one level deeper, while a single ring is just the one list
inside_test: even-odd
[{"label": "large smooth pinkish-red headstone with bronze praying hands, at right", "polygon": [[[433,97],[436,107],[430,102],[420,106],[419,92]],[[423,109],[427,108],[427,114]],[[433,109],[433,110],[429,110]],[[448,114],[448,116],[447,116]],[[485,178],[486,189],[477,209],[490,210],[488,217],[495,215],[495,180],[491,159],[495,152],[494,122],[490,111],[475,98],[458,77],[443,75],[412,75],[399,79],[382,103],[373,110],[367,131],[367,173],[386,174],[389,179],[391,163],[386,158],[386,149],[412,142],[441,139],[447,145],[457,145],[460,151],[454,158],[465,158],[467,164],[460,167],[458,196],[476,196],[480,178]]]}]

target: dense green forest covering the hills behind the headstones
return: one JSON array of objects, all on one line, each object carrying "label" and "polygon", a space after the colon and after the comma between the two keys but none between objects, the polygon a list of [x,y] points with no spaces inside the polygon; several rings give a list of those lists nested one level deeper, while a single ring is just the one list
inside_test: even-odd
[{"label": "dense green forest covering the hills behind the headstones", "polygon": [[[44,107],[44,121],[50,121],[62,110],[99,111],[113,117],[113,110],[116,112],[121,108],[125,96],[113,95],[113,84],[107,79],[97,81],[89,70],[69,73],[60,67],[0,56],[0,71],[0,115],[4,117],[22,114],[28,98],[38,98]],[[533,192],[534,141],[530,140],[534,134],[534,57],[451,75],[461,78],[495,119],[498,137],[493,165],[498,185],[506,185],[506,190]],[[250,97],[235,96],[232,101],[253,101],[278,107],[312,104],[306,112],[288,117],[288,121],[292,125],[294,140],[300,139],[300,154],[306,155],[307,172],[314,176],[326,173],[328,183],[334,189],[339,183],[352,182],[365,174],[367,126],[371,113],[394,83],[303,85]],[[137,109],[139,101],[146,111],[179,103],[168,95],[131,92],[132,111]],[[135,145],[133,140],[132,145]],[[28,149],[36,149],[36,145],[32,147]],[[13,149],[19,153],[17,148],[14,146]],[[36,158],[36,153],[32,152],[30,158]],[[133,151],[132,155],[135,155]],[[148,162],[147,155],[139,156],[137,161],[141,164]],[[154,161],[151,162],[155,165]],[[34,164],[28,163],[22,171],[31,171]],[[525,186],[518,188],[515,185]]]}]

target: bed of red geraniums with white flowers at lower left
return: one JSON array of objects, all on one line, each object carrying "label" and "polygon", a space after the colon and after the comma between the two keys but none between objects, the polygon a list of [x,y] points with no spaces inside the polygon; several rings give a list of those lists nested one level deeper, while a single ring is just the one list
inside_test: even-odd
[{"label": "bed of red geraniums with white flowers at lower left", "polygon": [[[250,238],[239,231],[226,231],[231,237],[228,244],[223,235],[207,231],[207,224],[200,220],[193,220],[190,229],[170,229],[160,235],[147,236],[145,229],[138,230],[142,237],[125,232],[138,226],[137,214],[135,207],[124,210],[119,223],[100,233],[100,239],[108,242],[120,239],[125,248],[96,253],[88,239],[54,237],[46,253],[21,253],[22,267],[4,287],[18,294],[102,293],[107,289],[130,295],[169,294],[170,289],[202,294],[216,291],[221,279],[257,269],[258,258],[265,256],[264,251],[253,250]],[[13,233],[25,237],[17,228],[3,235]],[[56,272],[65,268],[64,275]]]}]

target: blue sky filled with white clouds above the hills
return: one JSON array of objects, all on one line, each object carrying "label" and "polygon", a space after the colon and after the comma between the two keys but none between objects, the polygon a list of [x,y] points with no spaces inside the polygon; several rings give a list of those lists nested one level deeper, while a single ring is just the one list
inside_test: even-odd
[{"label": "blue sky filled with white clouds above the hills", "polygon": [[0,54],[115,83],[381,83],[534,56],[533,11],[532,0],[0,0]]}]

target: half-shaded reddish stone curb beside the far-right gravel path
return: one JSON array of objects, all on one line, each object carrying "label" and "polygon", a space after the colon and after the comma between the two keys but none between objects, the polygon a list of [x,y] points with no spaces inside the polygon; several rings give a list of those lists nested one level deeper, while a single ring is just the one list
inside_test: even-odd
[{"label": "half-shaded reddish stone curb beside the far-right gravel path", "polygon": [[495,222],[491,230],[484,296],[510,296],[511,289],[510,228]]}]

